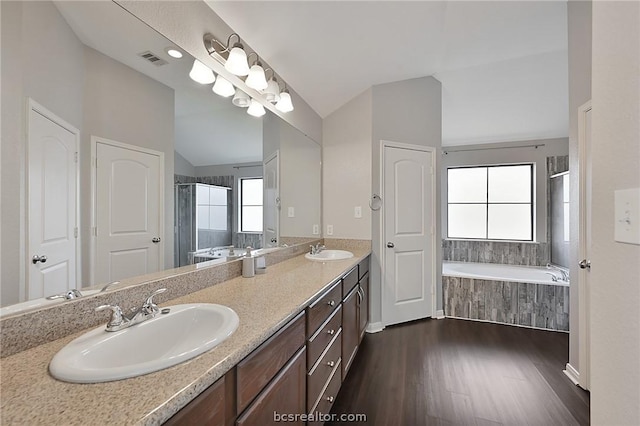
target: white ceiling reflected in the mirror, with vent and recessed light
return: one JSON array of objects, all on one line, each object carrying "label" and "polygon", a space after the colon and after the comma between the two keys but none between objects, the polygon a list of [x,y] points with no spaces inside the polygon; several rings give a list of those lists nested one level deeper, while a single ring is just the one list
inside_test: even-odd
[{"label": "white ceiling reflected in the mirror, with vent and recessed light", "polygon": [[[212,93],[211,85],[192,81],[193,58],[171,58],[165,48],[173,43],[114,2],[55,4],[82,43],[174,89],[175,150],[192,165],[262,162],[262,120]],[[147,50],[167,64],[138,56]]]}]

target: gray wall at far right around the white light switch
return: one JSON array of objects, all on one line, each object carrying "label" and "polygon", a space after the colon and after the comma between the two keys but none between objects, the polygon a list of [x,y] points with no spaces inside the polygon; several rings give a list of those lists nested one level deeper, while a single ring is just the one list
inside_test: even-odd
[{"label": "gray wall at far right around the white light switch", "polygon": [[640,245],[613,236],[614,192],[640,188],[640,2],[593,3],[592,63],[591,422],[638,425]]}]

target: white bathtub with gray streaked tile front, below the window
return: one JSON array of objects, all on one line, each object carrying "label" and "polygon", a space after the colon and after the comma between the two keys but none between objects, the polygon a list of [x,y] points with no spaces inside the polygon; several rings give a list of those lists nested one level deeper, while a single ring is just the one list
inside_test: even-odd
[{"label": "white bathtub with gray streaked tile front, below the window", "polygon": [[561,276],[544,267],[443,262],[444,315],[566,332],[569,282]]}]

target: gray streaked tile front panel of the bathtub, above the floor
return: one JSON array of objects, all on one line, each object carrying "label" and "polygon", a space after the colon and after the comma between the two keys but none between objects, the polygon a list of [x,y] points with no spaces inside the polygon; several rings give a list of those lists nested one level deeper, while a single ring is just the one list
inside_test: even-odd
[{"label": "gray streaked tile front panel of the bathtub, above the floor", "polygon": [[442,277],[444,314],[569,331],[569,287]]}]

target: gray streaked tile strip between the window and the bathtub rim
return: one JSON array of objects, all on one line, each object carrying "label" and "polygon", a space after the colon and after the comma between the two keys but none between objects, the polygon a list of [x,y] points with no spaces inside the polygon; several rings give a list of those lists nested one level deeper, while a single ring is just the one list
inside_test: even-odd
[{"label": "gray streaked tile strip between the window and the bathtub rim", "polygon": [[549,263],[549,244],[443,239],[442,259],[456,262],[544,266]]}]

